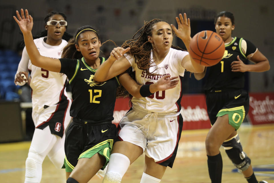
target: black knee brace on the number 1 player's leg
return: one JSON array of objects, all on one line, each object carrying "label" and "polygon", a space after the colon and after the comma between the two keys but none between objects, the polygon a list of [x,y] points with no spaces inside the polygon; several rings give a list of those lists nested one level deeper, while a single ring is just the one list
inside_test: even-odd
[{"label": "black knee brace on the number 1 player's leg", "polygon": [[251,160],[247,157],[245,152],[243,152],[238,134],[233,139],[224,142],[222,145],[232,163],[241,171],[247,170]]}]

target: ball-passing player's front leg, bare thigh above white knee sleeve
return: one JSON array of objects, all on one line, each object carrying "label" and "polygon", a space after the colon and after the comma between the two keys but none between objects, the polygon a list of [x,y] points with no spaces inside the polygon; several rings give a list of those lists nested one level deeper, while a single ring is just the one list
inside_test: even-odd
[{"label": "ball-passing player's front leg, bare thigh above white knee sleeve", "polygon": [[143,148],[130,142],[115,142],[103,183],[120,183],[130,164],[143,154],[143,151]]}]

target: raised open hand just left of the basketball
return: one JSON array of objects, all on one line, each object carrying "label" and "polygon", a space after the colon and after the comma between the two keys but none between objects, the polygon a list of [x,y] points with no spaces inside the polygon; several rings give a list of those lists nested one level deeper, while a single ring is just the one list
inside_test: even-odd
[{"label": "raised open hand just left of the basketball", "polygon": [[184,17],[180,13],[179,17],[180,18],[176,17],[178,29],[173,24],[171,24],[170,26],[175,31],[177,36],[185,42],[190,39],[190,19],[186,17],[186,13],[184,13]]}]

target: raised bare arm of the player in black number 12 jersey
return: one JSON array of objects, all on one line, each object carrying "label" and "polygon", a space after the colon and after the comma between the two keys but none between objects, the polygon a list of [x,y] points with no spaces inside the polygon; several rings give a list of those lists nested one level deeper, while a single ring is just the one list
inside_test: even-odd
[{"label": "raised bare arm of the player in black number 12 jersey", "polygon": [[35,43],[33,41],[33,36],[31,33],[33,27],[33,17],[29,15],[28,10],[25,10],[26,15],[24,14],[24,10],[21,9],[21,16],[19,12],[16,11],[18,19],[13,16],[15,21],[20,27],[20,30],[23,33],[24,41],[26,45],[26,49],[31,60],[31,63],[37,67],[41,67],[43,69],[53,71],[53,72],[60,72],[61,70],[61,63],[59,59],[53,59],[49,57],[44,57],[40,55]]}]

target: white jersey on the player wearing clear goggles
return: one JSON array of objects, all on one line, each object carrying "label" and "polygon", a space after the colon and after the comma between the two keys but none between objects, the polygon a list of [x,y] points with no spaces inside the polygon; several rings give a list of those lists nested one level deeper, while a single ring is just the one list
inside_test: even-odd
[{"label": "white jersey on the player wearing clear goggles", "polygon": [[[34,39],[34,43],[42,56],[57,59],[61,58],[63,48],[67,45],[67,41],[63,39],[60,45],[48,45],[45,43],[44,37]],[[32,106],[35,112],[41,112],[45,105],[52,106],[57,104],[61,100],[61,92],[63,90],[64,95],[67,96],[67,92],[64,89],[64,84],[67,79],[66,75],[36,67],[31,64],[30,60],[28,69],[31,73],[30,86],[33,90]]]}]

